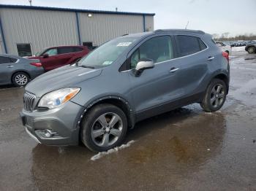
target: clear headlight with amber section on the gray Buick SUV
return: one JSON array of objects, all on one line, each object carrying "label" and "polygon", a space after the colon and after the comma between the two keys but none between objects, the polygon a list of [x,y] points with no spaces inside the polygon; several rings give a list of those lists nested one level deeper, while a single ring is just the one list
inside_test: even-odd
[{"label": "clear headlight with amber section on the gray Buick SUV", "polygon": [[73,98],[80,91],[79,87],[67,87],[46,93],[39,101],[39,107],[48,107],[49,109],[61,106]]}]

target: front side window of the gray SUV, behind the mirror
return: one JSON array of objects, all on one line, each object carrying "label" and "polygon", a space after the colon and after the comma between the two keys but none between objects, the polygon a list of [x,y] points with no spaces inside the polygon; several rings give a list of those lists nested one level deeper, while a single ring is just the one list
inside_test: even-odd
[{"label": "front side window of the gray SUV, behind the mirror", "polygon": [[130,57],[130,68],[135,69],[137,63],[143,58],[151,59],[154,63],[172,59],[173,46],[170,36],[157,36],[141,44]]}]

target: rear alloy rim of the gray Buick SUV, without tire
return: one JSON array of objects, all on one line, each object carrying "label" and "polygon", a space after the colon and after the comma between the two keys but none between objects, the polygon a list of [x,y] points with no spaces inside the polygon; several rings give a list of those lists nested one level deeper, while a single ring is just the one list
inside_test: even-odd
[{"label": "rear alloy rim of the gray Buick SUV, without tire", "polygon": [[217,84],[211,90],[211,106],[217,108],[218,106],[222,106],[222,103],[225,99],[225,90],[223,85]]}]

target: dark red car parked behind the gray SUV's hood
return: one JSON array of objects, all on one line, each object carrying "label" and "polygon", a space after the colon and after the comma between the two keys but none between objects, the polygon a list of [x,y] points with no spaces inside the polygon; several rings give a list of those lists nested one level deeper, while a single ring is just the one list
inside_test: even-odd
[{"label": "dark red car parked behind the gray SUV's hood", "polygon": [[49,47],[42,52],[38,52],[29,59],[39,59],[45,71],[59,68],[61,66],[75,63],[78,59],[89,53],[85,46],[59,46]]}]

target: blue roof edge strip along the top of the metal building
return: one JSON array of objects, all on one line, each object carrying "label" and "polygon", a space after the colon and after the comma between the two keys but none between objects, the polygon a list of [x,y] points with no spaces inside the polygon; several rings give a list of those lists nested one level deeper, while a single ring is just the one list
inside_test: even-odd
[{"label": "blue roof edge strip along the top of the metal building", "polygon": [[11,5],[11,4],[0,4],[0,8],[34,9],[34,10],[50,10],[50,11],[65,11],[65,12],[88,12],[88,13],[102,13],[102,14],[112,14],[112,15],[148,15],[148,16],[155,15],[155,13],[145,13],[145,12],[116,12],[116,11],[103,11],[103,10],[93,10],[93,9],[69,9],[69,8],[58,8],[58,7],[37,7],[37,6]]}]

